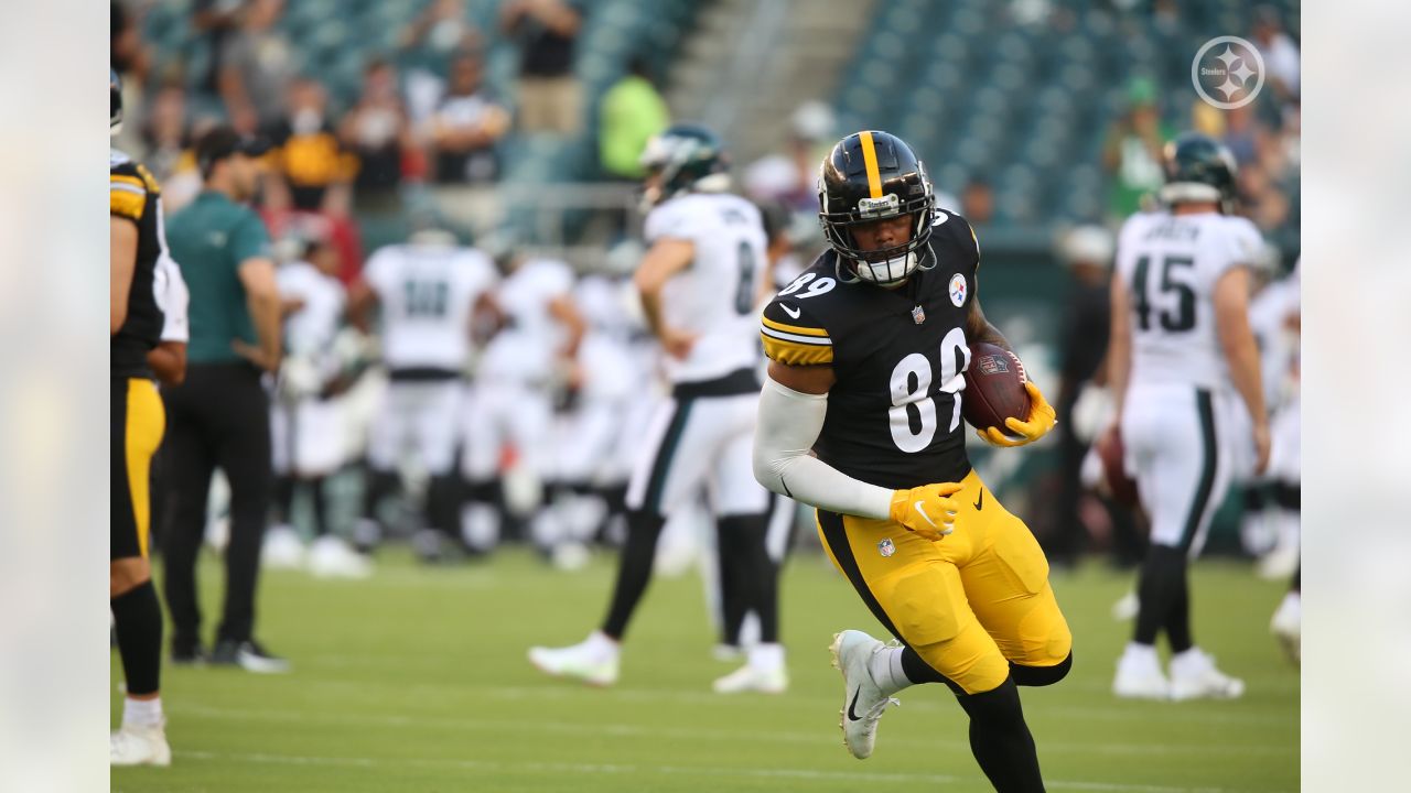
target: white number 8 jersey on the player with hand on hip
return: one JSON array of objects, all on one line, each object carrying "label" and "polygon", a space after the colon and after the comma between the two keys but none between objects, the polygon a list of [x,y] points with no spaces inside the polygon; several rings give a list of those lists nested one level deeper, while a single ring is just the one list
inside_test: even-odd
[{"label": "white number 8 jersey on the player with hand on hip", "polygon": [[686,360],[666,358],[672,382],[700,382],[759,363],[755,295],[765,265],[759,210],[732,193],[686,193],[652,209],[648,244],[684,240],[696,260],[662,292],[662,322],[697,336]]}]

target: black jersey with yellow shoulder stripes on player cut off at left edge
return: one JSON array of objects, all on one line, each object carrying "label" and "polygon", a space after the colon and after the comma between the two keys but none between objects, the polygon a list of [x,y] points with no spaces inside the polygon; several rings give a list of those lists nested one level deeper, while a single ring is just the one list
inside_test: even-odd
[{"label": "black jersey with yellow shoulder stripes on player cut off at left edge", "polygon": [[166,246],[162,230],[161,188],[157,179],[121,151],[109,154],[109,214],[137,224],[137,262],[127,293],[127,319],[109,346],[113,377],[151,377],[147,351],[162,333],[157,305],[157,258]]}]

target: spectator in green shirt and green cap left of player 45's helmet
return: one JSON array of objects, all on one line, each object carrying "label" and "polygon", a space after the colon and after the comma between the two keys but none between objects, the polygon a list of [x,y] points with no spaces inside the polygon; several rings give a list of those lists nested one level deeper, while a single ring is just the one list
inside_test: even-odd
[{"label": "spectator in green shirt and green cap left of player 45's helmet", "polygon": [[1127,83],[1127,113],[1112,124],[1102,147],[1102,167],[1113,176],[1108,213],[1115,223],[1141,209],[1149,193],[1161,186],[1161,147],[1173,135],[1170,126],[1161,123],[1150,78]]}]

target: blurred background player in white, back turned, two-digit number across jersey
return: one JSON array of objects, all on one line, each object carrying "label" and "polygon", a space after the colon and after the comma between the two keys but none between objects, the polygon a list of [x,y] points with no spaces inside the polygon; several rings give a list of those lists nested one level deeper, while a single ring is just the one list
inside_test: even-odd
[{"label": "blurred background player in white, back turned, two-digit number across jersey", "polygon": [[[429,474],[418,550],[440,553],[442,535],[457,533],[456,432],[463,373],[470,358],[471,316],[497,281],[490,257],[456,244],[440,229],[416,231],[368,260],[350,295],[350,313],[365,327],[381,305],[381,351],[388,387],[368,439],[368,487],[360,542],[377,532],[377,504],[396,485],[411,450]],[[435,531],[426,531],[435,529]],[[437,533],[440,532],[440,535]]]}]

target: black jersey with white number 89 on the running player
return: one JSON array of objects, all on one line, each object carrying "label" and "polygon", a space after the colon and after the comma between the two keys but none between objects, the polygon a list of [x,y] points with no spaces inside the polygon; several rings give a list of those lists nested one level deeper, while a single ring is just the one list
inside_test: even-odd
[{"label": "black jersey with white number 89 on the running player", "polygon": [[935,214],[927,243],[933,270],[914,271],[895,289],[844,284],[830,250],[765,306],[762,319],[770,360],[827,364],[837,375],[814,453],[879,487],[959,481],[969,473],[961,389],[979,246],[964,217]]}]

